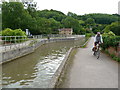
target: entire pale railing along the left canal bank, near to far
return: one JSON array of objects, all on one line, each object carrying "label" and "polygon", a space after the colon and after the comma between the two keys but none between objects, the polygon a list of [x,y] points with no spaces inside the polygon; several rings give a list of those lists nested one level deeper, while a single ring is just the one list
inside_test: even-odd
[{"label": "entire pale railing along the left canal bank, near to far", "polygon": [[[31,37],[26,36],[0,36],[0,52],[5,52],[13,49],[19,49],[26,47],[36,40],[50,40],[50,39],[65,39],[65,38],[79,38],[85,37],[84,35],[33,35]],[[30,39],[31,38],[31,39]],[[34,39],[34,40],[33,40]]]}]

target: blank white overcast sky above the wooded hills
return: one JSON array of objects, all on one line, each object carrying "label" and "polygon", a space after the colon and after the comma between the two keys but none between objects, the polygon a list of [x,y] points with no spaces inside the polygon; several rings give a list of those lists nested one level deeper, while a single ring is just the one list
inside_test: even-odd
[{"label": "blank white overcast sky above the wooded hills", "polygon": [[38,3],[38,9],[54,9],[73,12],[78,15],[88,13],[118,13],[118,2],[120,0],[34,0]]}]

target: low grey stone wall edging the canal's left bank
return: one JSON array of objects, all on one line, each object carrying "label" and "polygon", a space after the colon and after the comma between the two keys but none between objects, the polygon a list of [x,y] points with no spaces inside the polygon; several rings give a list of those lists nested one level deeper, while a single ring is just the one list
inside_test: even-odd
[{"label": "low grey stone wall edging the canal's left bank", "polygon": [[65,41],[65,40],[78,40],[79,38],[62,38],[62,39],[50,39],[50,40],[42,40],[38,41],[32,46],[27,46],[15,50],[10,50],[6,52],[2,52],[2,61],[0,63],[6,63],[11,60],[14,60],[16,58],[22,57],[24,55],[30,54],[35,51],[39,46],[45,44],[45,43],[50,43],[50,42],[57,42],[57,41]]}]

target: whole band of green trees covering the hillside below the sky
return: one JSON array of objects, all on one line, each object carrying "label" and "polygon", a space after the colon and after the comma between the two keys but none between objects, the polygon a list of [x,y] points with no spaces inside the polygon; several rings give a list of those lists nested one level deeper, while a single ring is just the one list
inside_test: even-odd
[{"label": "whole band of green trees covering the hillside below the sky", "polygon": [[[77,15],[68,12],[67,15],[57,10],[37,10],[37,3],[3,2],[2,30],[5,28],[29,29],[31,34],[58,34],[60,28],[73,28],[74,34],[112,31],[120,35],[118,14],[85,14]],[[1,14],[0,14],[1,16]],[[92,31],[89,31],[92,28]],[[105,28],[105,29],[104,29]],[[104,30],[103,30],[104,29]]]}]

